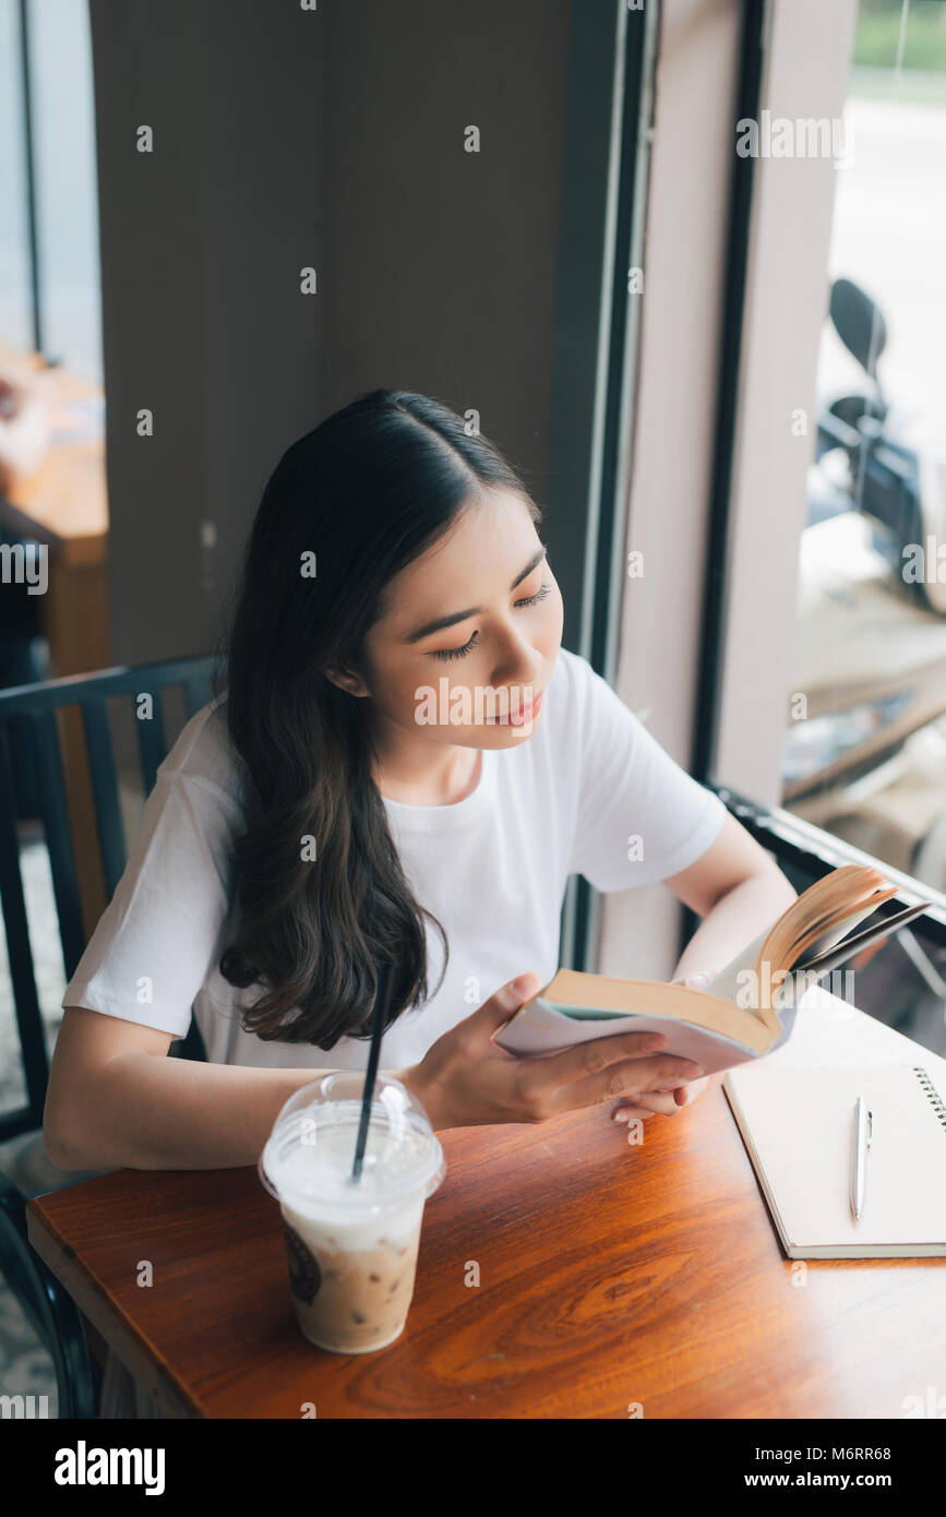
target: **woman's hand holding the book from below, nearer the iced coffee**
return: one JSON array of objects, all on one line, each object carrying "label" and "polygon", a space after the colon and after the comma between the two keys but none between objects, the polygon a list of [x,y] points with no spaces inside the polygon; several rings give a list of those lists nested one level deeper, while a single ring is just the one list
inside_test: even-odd
[{"label": "woman's hand holding the book from below, nearer the iced coffee", "polygon": [[561,1053],[517,1057],[493,1042],[540,991],[537,974],[500,986],[470,1016],[405,1071],[435,1130],[484,1123],[543,1123],[582,1106],[673,1091],[697,1079],[700,1065],[661,1053],[661,1033],[612,1033]]}]

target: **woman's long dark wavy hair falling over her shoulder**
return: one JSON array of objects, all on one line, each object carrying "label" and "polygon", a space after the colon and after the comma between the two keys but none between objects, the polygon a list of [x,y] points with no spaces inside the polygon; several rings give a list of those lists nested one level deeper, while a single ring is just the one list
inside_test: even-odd
[{"label": "woman's long dark wavy hair falling over her shoulder", "polygon": [[368,699],[326,671],[359,666],[387,583],[490,487],[515,492],[540,520],[522,478],[449,407],[371,390],[293,443],[264,490],[226,661],[246,831],[220,972],[264,988],[243,1027],[265,1041],[332,1048],[368,1036],[385,960],[387,1025],[423,1003],[424,916],[446,969],[444,928],[408,887],[374,784]]}]

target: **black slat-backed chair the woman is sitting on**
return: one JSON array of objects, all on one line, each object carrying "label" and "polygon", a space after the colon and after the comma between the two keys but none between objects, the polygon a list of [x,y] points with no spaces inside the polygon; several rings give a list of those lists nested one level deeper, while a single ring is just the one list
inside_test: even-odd
[{"label": "black slat-backed chair the woman is sitting on", "polygon": [[[29,733],[45,846],[50,857],[53,894],[65,977],[70,980],[85,950],[76,859],[68,822],[62,755],[56,713],[67,707],[82,710],[100,862],[108,900],[126,865],[126,842],[118,798],[118,780],[108,701],[112,696],[152,696],[152,718],[135,721],[144,795],[150,795],[158,765],[168,745],[164,734],[162,690],[182,687],[188,718],[211,699],[217,660],[212,655],[177,658],[168,663],[105,669],[100,674],[49,680],[42,684],[0,690],[0,901],[20,1053],[27,1101],[18,1110],[0,1112],[0,1142],[23,1133],[36,1135],[41,1150],[42,1107],[49,1082],[45,1032],[36,994],[35,965],[27,931],[26,900],[17,831],[18,796],[11,757],[11,724]],[[188,1036],[174,1050],[179,1057],[206,1059],[206,1050],[191,1019]],[[74,1185],[77,1179],[65,1179]],[[56,1186],[41,1185],[29,1194]],[[9,1176],[0,1173],[0,1274],[20,1302],[27,1320],[50,1353],[59,1390],[59,1417],[97,1417],[100,1371],[88,1352],[82,1318],[27,1239],[26,1201],[29,1195]]]}]

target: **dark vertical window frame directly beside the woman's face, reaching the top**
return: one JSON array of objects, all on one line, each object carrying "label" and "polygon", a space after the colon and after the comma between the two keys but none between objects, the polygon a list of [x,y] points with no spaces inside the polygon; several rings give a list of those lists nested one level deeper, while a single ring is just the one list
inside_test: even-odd
[{"label": "dark vertical window frame directly beside the woman's face, reaching the top", "polygon": [[[641,9],[626,0],[572,0],[547,542],[565,602],[564,646],[609,684],[620,614],[616,564],[623,561],[626,531],[629,390],[637,384],[628,269],[646,199],[658,32],[659,0]],[[562,965],[594,968],[599,913],[599,892],[584,875],[572,875],[561,913]]]}]

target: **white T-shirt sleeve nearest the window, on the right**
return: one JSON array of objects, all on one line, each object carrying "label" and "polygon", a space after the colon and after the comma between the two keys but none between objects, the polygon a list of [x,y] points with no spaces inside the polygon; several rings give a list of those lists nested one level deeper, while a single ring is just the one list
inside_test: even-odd
[{"label": "white T-shirt sleeve nearest the window, on the right", "polygon": [[726,807],[585,660],[575,661],[575,674],[581,778],[572,871],[599,890],[667,880],[710,848]]}]

